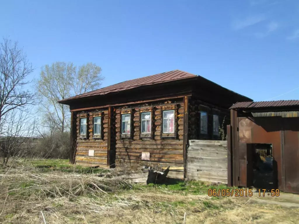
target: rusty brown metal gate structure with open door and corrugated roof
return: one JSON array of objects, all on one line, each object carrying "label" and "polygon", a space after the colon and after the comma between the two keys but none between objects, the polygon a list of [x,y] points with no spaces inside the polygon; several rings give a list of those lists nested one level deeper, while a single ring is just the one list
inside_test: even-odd
[{"label": "rusty brown metal gate structure with open door and corrugated roof", "polygon": [[230,109],[228,183],[299,193],[299,100],[237,102]]}]

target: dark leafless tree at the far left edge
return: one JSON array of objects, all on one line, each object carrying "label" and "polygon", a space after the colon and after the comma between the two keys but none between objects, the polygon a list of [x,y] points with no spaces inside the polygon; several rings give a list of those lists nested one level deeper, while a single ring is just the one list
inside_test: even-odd
[{"label": "dark leafless tree at the far left edge", "polygon": [[32,65],[18,43],[3,39],[0,44],[0,157],[3,157],[3,165],[10,157],[22,153],[25,137],[34,131],[28,126],[30,113],[27,111],[34,104],[35,96],[24,90],[30,83],[26,78],[32,72]]}]

